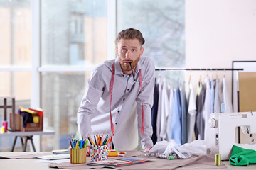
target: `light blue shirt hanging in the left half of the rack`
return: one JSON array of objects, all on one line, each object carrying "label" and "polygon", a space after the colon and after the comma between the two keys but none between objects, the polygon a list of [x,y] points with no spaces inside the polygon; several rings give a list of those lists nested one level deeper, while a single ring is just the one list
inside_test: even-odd
[{"label": "light blue shirt hanging in the left half of the rack", "polygon": [[178,145],[181,145],[181,97],[179,83],[174,90],[174,109],[171,118],[171,139],[174,139]]}]

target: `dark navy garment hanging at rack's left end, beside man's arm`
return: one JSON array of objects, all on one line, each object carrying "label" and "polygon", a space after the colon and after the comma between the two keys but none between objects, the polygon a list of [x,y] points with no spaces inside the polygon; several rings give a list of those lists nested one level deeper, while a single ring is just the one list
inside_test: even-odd
[{"label": "dark navy garment hanging at rack's left end, beside man's arm", "polygon": [[151,139],[152,139],[154,145],[157,142],[156,118],[157,118],[158,100],[159,100],[158,85],[155,84],[155,86],[154,86],[154,104],[153,104],[153,107],[151,108],[151,118],[152,118],[151,125],[152,125],[152,128],[153,128],[153,135],[152,135]]}]

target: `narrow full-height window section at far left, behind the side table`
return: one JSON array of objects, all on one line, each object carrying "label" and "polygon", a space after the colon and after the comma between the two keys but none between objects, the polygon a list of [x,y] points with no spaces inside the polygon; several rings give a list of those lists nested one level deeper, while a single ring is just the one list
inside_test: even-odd
[{"label": "narrow full-height window section at far left, behind the side table", "polygon": [[[15,96],[18,106],[31,103],[31,2],[0,1],[0,96]],[[4,100],[0,99],[0,105]],[[11,104],[11,100],[7,100]],[[9,121],[11,108],[7,109]],[[4,109],[0,109],[0,123]],[[11,149],[14,137],[1,137],[0,151]],[[21,143],[16,144],[16,147]]]}]

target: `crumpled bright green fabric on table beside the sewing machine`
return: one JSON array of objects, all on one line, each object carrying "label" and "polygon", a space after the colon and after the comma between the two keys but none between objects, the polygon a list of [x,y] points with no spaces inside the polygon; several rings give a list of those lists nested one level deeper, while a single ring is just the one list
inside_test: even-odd
[{"label": "crumpled bright green fabric on table beside the sewing machine", "polygon": [[256,164],[256,151],[252,149],[243,149],[233,145],[230,164],[235,166],[246,166],[248,164]]}]

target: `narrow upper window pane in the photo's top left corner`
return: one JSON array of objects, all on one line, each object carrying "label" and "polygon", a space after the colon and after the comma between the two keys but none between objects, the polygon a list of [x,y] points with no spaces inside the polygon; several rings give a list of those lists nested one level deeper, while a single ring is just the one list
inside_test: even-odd
[{"label": "narrow upper window pane in the photo's top left corner", "polygon": [[31,65],[31,4],[0,1],[0,66]]}]

